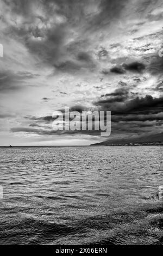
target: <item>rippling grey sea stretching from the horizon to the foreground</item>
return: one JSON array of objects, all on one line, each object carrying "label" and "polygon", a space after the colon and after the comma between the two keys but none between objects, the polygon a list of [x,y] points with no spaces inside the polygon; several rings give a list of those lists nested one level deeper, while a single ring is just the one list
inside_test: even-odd
[{"label": "rippling grey sea stretching from the horizon to the foreground", "polygon": [[1,245],[163,245],[162,146],[1,147]]}]

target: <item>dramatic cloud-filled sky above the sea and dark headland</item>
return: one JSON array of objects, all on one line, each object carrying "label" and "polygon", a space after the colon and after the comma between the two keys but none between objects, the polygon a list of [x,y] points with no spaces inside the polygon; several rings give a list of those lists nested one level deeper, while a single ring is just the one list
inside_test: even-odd
[{"label": "dramatic cloud-filled sky above the sea and dark headland", "polygon": [[[89,145],[162,132],[162,0],[0,0],[0,145]],[[111,111],[111,136],[53,112]]]}]

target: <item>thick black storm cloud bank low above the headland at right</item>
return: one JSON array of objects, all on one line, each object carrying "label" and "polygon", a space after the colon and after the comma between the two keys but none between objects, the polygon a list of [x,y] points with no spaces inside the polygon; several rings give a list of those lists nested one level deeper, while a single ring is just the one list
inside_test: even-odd
[{"label": "thick black storm cloud bank low above the headland at right", "polygon": [[[113,97],[114,98],[114,97]],[[123,95],[95,102],[99,111],[111,111],[111,132],[121,135],[129,133],[161,132],[163,125],[163,97],[151,95],[123,101]],[[156,130],[158,127],[158,131]]]}]

